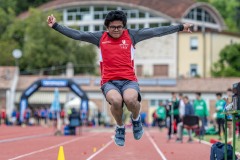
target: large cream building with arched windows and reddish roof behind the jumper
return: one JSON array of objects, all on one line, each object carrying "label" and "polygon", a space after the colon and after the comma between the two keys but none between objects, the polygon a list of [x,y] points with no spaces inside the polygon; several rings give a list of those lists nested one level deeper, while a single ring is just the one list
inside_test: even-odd
[{"label": "large cream building with arched windows and reddish roof behind the jumper", "polygon": [[240,42],[240,35],[223,32],[226,26],[215,8],[194,0],[55,0],[39,8],[57,10],[62,17],[59,23],[90,32],[105,30],[105,16],[116,9],[125,11],[131,29],[194,24],[192,34],[179,32],[137,44],[135,69],[141,77],[211,77],[219,51]]}]

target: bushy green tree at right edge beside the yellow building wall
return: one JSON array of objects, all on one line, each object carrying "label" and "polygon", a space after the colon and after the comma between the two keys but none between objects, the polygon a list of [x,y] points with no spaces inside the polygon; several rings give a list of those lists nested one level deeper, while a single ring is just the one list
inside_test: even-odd
[{"label": "bushy green tree at right edge beside the yellow building wall", "polygon": [[240,76],[240,44],[226,46],[220,52],[220,59],[212,68],[214,77]]}]

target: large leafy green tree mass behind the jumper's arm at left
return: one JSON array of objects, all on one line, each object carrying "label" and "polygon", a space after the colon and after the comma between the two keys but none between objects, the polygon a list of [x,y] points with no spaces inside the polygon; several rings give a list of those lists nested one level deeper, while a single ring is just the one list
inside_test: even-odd
[{"label": "large leafy green tree mass behind the jumper's arm at left", "polygon": [[[8,27],[2,36],[5,41],[12,40],[23,51],[19,59],[20,71],[26,74],[39,73],[60,74],[56,70],[66,66],[68,62],[76,65],[87,65],[88,68],[76,68],[76,73],[95,73],[96,52],[92,45],[67,38],[46,23],[49,13],[30,9],[30,16],[25,20],[17,20]],[[58,19],[60,15],[54,13]],[[6,46],[4,47],[6,48]],[[51,69],[55,68],[52,72]]]}]

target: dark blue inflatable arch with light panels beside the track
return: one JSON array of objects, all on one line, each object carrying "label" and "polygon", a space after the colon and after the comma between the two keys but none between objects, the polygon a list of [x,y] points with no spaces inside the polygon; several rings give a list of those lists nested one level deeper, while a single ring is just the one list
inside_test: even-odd
[{"label": "dark blue inflatable arch with light panels beside the track", "polygon": [[20,122],[23,122],[24,111],[28,107],[28,98],[40,87],[69,87],[78,97],[81,98],[80,110],[82,120],[87,120],[88,115],[88,97],[74,81],[70,79],[40,79],[35,81],[22,94],[20,100]]}]

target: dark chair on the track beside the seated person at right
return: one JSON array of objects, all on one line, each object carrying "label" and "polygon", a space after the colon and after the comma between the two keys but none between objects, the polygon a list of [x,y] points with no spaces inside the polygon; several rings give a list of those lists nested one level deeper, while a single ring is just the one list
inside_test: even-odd
[{"label": "dark chair on the track beside the seated person at right", "polygon": [[[196,115],[187,115],[183,117],[183,128],[187,130],[195,130],[200,133],[201,127],[199,124],[199,117]],[[201,142],[200,134],[199,136],[199,143]]]}]

